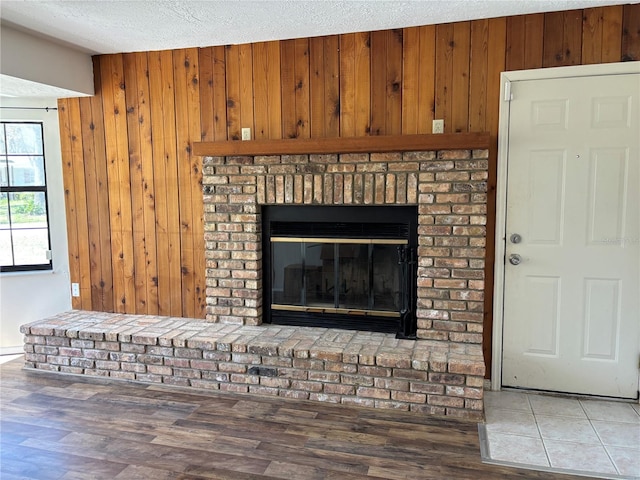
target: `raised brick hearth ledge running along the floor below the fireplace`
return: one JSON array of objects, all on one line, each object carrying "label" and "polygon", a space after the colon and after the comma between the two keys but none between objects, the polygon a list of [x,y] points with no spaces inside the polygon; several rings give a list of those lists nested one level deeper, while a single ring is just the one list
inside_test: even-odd
[{"label": "raised brick hearth ledge running along the floor below the fireplace", "polygon": [[25,368],[480,420],[481,346],[71,311],[23,325]]}]

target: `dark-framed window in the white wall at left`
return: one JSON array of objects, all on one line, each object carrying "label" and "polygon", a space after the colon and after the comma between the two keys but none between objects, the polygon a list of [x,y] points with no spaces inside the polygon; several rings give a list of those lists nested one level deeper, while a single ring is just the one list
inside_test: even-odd
[{"label": "dark-framed window in the white wall at left", "polygon": [[42,123],[1,125],[1,271],[51,270]]}]

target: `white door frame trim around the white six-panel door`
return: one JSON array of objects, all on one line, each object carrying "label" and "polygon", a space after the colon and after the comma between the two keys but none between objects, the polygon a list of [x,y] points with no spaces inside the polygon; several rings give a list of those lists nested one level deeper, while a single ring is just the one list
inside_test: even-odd
[{"label": "white door frame trim around the white six-panel door", "polygon": [[500,123],[498,127],[498,178],[496,197],[496,243],[493,284],[493,332],[491,389],[502,388],[502,334],[504,326],[504,258],[506,247],[507,170],[509,153],[509,98],[511,83],[599,75],[640,73],[640,62],[604,63],[573,67],[542,68],[500,74]]}]

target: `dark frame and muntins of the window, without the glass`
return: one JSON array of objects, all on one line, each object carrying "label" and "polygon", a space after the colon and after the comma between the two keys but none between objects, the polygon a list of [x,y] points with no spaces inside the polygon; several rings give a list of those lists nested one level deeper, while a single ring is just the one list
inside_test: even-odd
[{"label": "dark frame and muntins of the window, without the glass", "polygon": [[[2,125],[2,129],[0,131],[0,135],[4,137],[5,150],[0,152],[0,157],[7,158],[9,156],[28,156],[28,154],[12,154],[7,150],[7,139],[6,139],[6,125],[7,124],[29,124],[29,125],[39,125],[41,137],[40,140],[42,142],[42,169],[43,169],[43,185],[24,185],[24,186],[12,186],[12,185],[0,185],[0,193],[7,194],[7,215],[9,219],[9,232],[11,235],[11,257],[13,264],[12,265],[0,265],[0,273],[8,273],[8,272],[30,272],[30,271],[48,271],[53,270],[53,255],[52,255],[52,245],[51,245],[51,219],[49,215],[49,195],[48,195],[48,179],[47,179],[47,154],[46,154],[46,141],[45,141],[45,122],[40,120],[0,120],[0,124]],[[8,173],[8,172],[7,172]],[[43,193],[45,198],[45,217],[46,217],[46,229],[47,229],[47,262],[45,263],[34,263],[34,264],[16,264],[15,263],[15,242],[13,238],[13,232],[18,230],[14,229],[11,221],[11,210],[9,209],[9,195],[15,193]],[[41,228],[40,228],[41,229]],[[19,230],[29,230],[29,228],[21,228]]]}]

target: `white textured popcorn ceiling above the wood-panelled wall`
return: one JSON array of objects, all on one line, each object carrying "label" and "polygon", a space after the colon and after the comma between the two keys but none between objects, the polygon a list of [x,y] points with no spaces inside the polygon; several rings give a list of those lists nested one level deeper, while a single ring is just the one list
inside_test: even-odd
[{"label": "white textured popcorn ceiling above the wood-panelled wall", "polygon": [[638,0],[2,0],[8,25],[116,53],[383,30]]}]

